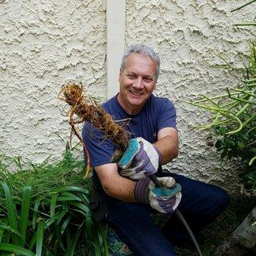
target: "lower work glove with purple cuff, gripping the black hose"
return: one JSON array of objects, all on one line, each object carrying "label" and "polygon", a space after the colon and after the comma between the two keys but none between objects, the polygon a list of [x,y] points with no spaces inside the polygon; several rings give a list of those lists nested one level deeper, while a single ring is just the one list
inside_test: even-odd
[{"label": "lower work glove with purple cuff, gripping the black hose", "polygon": [[135,186],[137,202],[149,204],[160,213],[174,213],[182,197],[181,186],[172,177],[157,178],[163,188],[156,188],[149,178],[139,179]]}]

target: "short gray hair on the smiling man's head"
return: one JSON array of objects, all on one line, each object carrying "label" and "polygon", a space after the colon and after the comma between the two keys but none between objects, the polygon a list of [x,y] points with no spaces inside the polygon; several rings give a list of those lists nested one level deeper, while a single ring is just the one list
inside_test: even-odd
[{"label": "short gray hair on the smiling man's head", "polygon": [[152,48],[150,48],[149,46],[145,46],[143,44],[135,44],[133,46],[130,46],[129,49],[127,49],[127,51],[124,52],[120,70],[124,71],[125,65],[127,63],[127,58],[129,57],[129,55],[133,53],[143,54],[145,56],[151,57],[152,60],[154,60],[157,63],[157,71],[155,74],[155,77],[157,79],[160,73],[160,58]]}]

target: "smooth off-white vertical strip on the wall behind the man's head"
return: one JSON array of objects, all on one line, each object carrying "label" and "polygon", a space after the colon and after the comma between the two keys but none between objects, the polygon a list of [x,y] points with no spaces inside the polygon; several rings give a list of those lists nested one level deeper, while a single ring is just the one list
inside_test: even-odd
[{"label": "smooth off-white vertical strip on the wall behind the man's head", "polygon": [[107,0],[107,99],[119,90],[118,74],[124,54],[125,0]]}]

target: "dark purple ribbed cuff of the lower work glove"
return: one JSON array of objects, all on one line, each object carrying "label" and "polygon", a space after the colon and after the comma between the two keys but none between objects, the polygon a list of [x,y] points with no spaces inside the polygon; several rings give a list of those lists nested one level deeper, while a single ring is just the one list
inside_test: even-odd
[{"label": "dark purple ribbed cuff of the lower work glove", "polygon": [[134,196],[137,202],[149,205],[149,182],[150,179],[139,179],[135,185]]}]

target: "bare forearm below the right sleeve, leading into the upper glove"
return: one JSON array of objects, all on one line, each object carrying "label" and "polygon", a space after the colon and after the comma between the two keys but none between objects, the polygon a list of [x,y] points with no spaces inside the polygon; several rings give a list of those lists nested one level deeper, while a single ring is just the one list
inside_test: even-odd
[{"label": "bare forearm below the right sleeve, leading into the upper glove", "polygon": [[154,146],[159,149],[162,155],[162,164],[169,163],[179,153],[179,138],[177,129],[166,127],[157,133],[157,142]]}]

